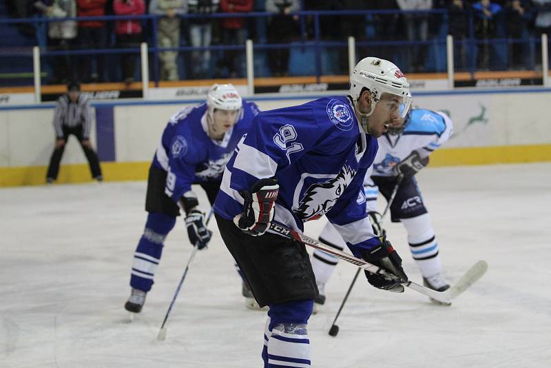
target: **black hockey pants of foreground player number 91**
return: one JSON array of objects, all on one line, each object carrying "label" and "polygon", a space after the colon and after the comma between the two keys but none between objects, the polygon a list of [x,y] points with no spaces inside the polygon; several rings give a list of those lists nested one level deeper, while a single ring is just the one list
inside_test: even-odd
[{"label": "black hockey pants of foreground player number 91", "polygon": [[222,240],[251,286],[260,307],[318,295],[306,247],[291,239],[265,233],[251,236],[231,220],[214,214]]}]

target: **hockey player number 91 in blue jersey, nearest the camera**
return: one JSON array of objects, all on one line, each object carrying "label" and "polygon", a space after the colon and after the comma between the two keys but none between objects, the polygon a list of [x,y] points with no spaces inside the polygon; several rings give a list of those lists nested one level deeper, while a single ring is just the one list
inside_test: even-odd
[{"label": "hockey player number 91 in blue jersey, nearest the camera", "polygon": [[[407,280],[390,243],[373,234],[362,184],[377,137],[409,103],[396,65],[368,57],[351,75],[350,96],[261,112],[238,143],[214,212],[258,304],[269,306],[264,367],[310,367],[306,324],[318,294],[304,245],[267,231],[271,221],[302,231],[326,215],[355,256]],[[366,276],[375,287],[404,290],[395,279]]]}]

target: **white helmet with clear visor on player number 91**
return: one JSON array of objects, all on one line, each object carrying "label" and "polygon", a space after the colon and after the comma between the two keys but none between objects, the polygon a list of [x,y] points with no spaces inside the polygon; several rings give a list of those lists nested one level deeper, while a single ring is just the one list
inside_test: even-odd
[{"label": "white helmet with clear visor on player number 91", "polygon": [[374,100],[371,112],[366,114],[367,116],[375,110],[375,104],[385,92],[402,97],[399,114],[401,117],[405,117],[408,113],[411,104],[408,80],[402,71],[390,61],[376,57],[366,57],[360,60],[350,76],[349,94],[353,101],[360,98],[363,88],[367,88],[371,92]]}]

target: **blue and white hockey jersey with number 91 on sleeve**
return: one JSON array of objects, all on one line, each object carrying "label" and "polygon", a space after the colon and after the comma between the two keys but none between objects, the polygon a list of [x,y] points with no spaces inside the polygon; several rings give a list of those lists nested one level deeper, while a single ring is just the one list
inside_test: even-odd
[{"label": "blue and white hockey jersey with number 91 on sleeve", "polygon": [[324,214],[356,256],[380,241],[366,218],[363,181],[377,153],[351,101],[329,96],[304,105],[261,112],[227,164],[214,211],[233,219],[260,178],[280,185],[274,221],[303,231]]}]

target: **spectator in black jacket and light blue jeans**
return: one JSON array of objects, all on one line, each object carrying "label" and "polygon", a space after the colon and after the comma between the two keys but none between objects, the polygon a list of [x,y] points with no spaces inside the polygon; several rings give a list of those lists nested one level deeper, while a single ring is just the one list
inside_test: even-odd
[{"label": "spectator in black jacket and light blue jeans", "polygon": [[[220,0],[187,0],[189,14],[209,15],[218,12]],[[212,41],[212,18],[189,19],[189,41],[194,48],[209,47]],[[209,76],[211,62],[210,50],[191,52],[191,75],[205,79]]]}]

